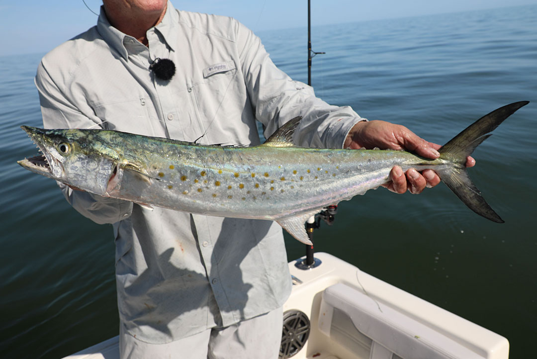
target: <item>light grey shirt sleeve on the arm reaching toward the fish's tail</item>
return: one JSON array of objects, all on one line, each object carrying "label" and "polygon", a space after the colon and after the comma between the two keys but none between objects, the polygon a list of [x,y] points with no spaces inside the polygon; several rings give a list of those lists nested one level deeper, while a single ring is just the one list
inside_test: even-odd
[{"label": "light grey shirt sleeve on the arm reaching toward the fish's tail", "polygon": [[256,118],[265,137],[296,116],[302,121],[295,143],[317,148],[343,148],[354,124],[365,119],[350,106],[332,106],[315,97],[313,87],[294,81],[278,69],[260,39],[237,23],[241,68]]}]

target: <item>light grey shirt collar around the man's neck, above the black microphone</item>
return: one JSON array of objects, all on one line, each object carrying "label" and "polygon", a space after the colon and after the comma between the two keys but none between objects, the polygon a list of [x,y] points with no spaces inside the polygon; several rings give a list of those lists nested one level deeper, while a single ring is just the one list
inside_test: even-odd
[{"label": "light grey shirt collar around the man's neck, above the black microphone", "polygon": [[[177,40],[178,20],[179,14],[175,8],[173,8],[171,2],[168,1],[166,13],[162,18],[162,21],[154,27],[155,30],[162,35],[166,45],[168,45],[172,50],[175,50],[174,47]],[[106,43],[108,43],[108,45],[115,49],[122,57],[125,58],[125,60],[128,59],[128,50],[125,47],[124,41],[131,39],[137,41],[137,39],[133,38],[133,36],[122,33],[117,28],[110,25],[104,11],[104,6],[101,6],[100,8],[100,14],[97,20],[97,31],[101,36],[103,36],[103,39],[106,41]]]}]

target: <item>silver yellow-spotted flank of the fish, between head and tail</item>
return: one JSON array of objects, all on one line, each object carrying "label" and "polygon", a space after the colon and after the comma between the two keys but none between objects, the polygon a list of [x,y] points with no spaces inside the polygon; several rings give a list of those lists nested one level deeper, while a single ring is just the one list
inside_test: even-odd
[{"label": "silver yellow-spotted flank of the fish, between head and tail", "polygon": [[[278,219],[350,199],[387,181],[407,152],[305,148],[182,146],[175,156],[147,156],[149,176],[135,201],[227,217]],[[170,153],[170,152],[168,152]],[[172,159],[177,158],[177,159]],[[390,158],[392,160],[390,160]],[[194,159],[197,159],[194,160]],[[121,191],[139,191],[139,175],[124,174]],[[125,190],[124,190],[125,189]]]}]

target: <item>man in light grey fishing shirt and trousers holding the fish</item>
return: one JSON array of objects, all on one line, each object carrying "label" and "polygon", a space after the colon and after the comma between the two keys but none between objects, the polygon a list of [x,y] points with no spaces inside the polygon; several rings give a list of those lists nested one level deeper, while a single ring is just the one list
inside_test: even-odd
[{"label": "man in light grey fishing shirt and trousers holding the fish", "polygon": [[[176,65],[171,79],[150,70],[163,58]],[[234,19],[177,11],[165,0],[104,0],[97,26],[43,57],[35,83],[47,128],[255,145],[255,120],[269,136],[301,115],[301,145],[438,157],[439,146],[402,126],[315,98]],[[430,170],[394,167],[390,175],[397,193],[440,181]],[[122,358],[278,356],[291,291],[278,224],[149,211],[61,187],[84,216],[113,223]]]}]

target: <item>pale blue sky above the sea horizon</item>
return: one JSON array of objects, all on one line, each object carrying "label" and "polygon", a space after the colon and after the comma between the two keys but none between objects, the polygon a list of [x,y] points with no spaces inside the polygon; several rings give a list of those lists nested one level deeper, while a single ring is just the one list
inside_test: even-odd
[{"label": "pale blue sky above the sea horizon", "polygon": [[[86,0],[99,12],[102,0]],[[232,16],[254,32],[307,26],[306,0],[174,0],[177,9]],[[537,0],[510,0],[509,6]],[[501,8],[505,0],[311,0],[311,23],[350,23]],[[0,56],[46,53],[97,23],[82,0],[0,0]]]}]

